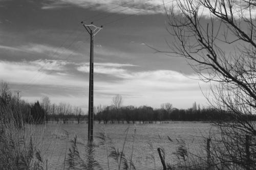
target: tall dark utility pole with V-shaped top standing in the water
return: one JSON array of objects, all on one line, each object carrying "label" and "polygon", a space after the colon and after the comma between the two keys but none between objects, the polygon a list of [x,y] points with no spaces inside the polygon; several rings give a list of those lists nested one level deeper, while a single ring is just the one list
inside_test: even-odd
[{"label": "tall dark utility pole with V-shaped top standing in the water", "polygon": [[91,22],[91,25],[85,25],[83,21],[81,22],[83,27],[87,30],[91,37],[90,44],[90,80],[89,80],[89,111],[88,111],[88,141],[93,141],[93,44],[94,44],[94,36],[102,29],[102,26],[96,27]]}]

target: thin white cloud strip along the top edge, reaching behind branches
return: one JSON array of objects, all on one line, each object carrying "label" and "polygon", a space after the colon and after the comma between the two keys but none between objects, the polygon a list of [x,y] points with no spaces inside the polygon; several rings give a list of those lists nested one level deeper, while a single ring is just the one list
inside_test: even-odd
[{"label": "thin white cloud strip along the top edge, reaching behind branches", "polygon": [[[50,9],[58,9],[65,8],[70,6],[76,6],[86,9],[95,9],[100,11],[107,11],[110,13],[119,13],[119,14],[165,14],[165,9],[169,9],[171,6],[175,6],[174,10],[179,11],[177,7],[177,2],[182,4],[182,6],[186,7],[187,3],[185,1],[177,1],[177,0],[48,0],[48,3],[45,3],[42,6],[42,9],[50,10]],[[211,1],[213,6],[216,1]],[[193,6],[197,6],[199,1],[193,1]],[[249,10],[243,9],[241,10],[242,3],[240,1],[234,1],[234,5],[232,7],[232,11],[234,16],[241,17],[243,16],[249,17]],[[165,7],[165,9],[164,9]],[[224,9],[222,9],[223,11]],[[227,11],[229,12],[229,11]],[[256,9],[251,9],[252,13],[256,12]],[[208,17],[210,14],[209,10],[204,8],[203,6],[199,7],[199,15]],[[100,18],[100,17],[99,17]],[[97,18],[96,18],[97,19]]]}]

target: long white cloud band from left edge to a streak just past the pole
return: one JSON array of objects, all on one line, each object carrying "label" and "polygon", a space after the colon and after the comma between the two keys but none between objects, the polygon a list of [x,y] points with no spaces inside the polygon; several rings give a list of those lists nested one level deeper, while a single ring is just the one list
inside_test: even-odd
[{"label": "long white cloud band from left edge to a streak just past the pole", "polygon": [[[125,74],[121,67],[135,67],[132,64],[94,63],[95,72],[114,76]],[[80,80],[74,72],[89,72],[89,63],[75,63],[64,60],[34,60],[34,61],[0,61],[0,78],[7,82],[26,84],[33,81],[33,85],[63,85],[81,86],[85,82]],[[72,80],[72,81],[71,81]],[[74,81],[75,80],[75,81]],[[81,83],[83,82],[83,83]]]}]

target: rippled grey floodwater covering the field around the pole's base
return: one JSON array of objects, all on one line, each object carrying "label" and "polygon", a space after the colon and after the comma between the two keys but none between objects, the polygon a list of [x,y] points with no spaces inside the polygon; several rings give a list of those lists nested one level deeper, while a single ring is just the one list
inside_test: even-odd
[{"label": "rippled grey floodwater covering the field around the pole's base", "polygon": [[[128,128],[128,129],[127,129]],[[163,124],[94,124],[94,160],[103,169],[118,169],[117,162],[109,157],[110,147],[113,146],[131,160],[136,169],[162,169],[157,148],[164,149],[165,162],[177,163],[175,152],[181,140],[191,153],[197,154],[205,146],[205,139],[211,125],[200,122],[169,122]],[[128,132],[127,132],[128,131]],[[101,141],[96,136],[102,132],[111,138],[111,144],[99,145]],[[127,136],[126,136],[127,132]],[[71,140],[77,137],[79,155],[84,162],[88,159],[86,149],[88,124],[57,124],[48,123],[45,128],[44,150],[42,156],[47,160],[48,169],[67,169]],[[135,136],[135,138],[134,138]],[[168,137],[169,136],[169,139]],[[126,140],[125,140],[126,137]],[[110,140],[108,140],[110,141]],[[123,147],[124,145],[124,147]],[[108,154],[106,153],[108,147]],[[46,163],[45,163],[46,164]],[[130,162],[129,162],[130,164]],[[122,168],[120,168],[122,169]]]}]

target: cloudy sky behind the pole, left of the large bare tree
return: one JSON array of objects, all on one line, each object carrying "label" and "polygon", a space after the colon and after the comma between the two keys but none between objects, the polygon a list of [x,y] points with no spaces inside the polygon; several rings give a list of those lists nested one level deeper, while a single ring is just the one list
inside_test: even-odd
[{"label": "cloudy sky behind the pole, left of the large bare tree", "polygon": [[95,36],[95,105],[110,105],[115,94],[123,105],[206,105],[199,85],[207,85],[185,59],[147,46],[167,51],[172,42],[162,0],[0,0],[0,79],[29,102],[47,95],[86,110],[90,39],[81,21],[103,26]]}]

